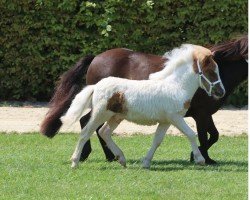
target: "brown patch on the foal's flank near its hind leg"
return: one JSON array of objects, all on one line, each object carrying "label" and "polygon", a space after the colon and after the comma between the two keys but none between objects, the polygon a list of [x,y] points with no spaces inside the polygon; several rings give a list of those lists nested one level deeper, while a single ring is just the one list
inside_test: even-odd
[{"label": "brown patch on the foal's flank near its hind leg", "polygon": [[127,111],[125,107],[125,97],[122,92],[115,92],[108,100],[107,110],[115,113],[124,113]]}]

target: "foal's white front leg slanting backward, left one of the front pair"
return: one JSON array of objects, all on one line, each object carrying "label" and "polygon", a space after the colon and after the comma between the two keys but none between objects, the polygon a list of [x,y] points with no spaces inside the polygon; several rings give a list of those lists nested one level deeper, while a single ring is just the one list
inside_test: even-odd
[{"label": "foal's white front leg slanting backward, left one of the front pair", "polygon": [[170,124],[159,124],[158,125],[156,132],[155,132],[152,146],[142,162],[142,166],[144,168],[150,168],[150,163],[151,163],[151,160],[153,159],[154,153],[155,153],[156,149],[160,146],[169,126],[170,126]]}]

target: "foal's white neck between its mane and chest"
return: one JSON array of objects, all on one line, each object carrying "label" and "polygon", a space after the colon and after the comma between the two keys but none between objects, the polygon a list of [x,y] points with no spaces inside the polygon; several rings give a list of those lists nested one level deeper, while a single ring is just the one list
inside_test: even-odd
[{"label": "foal's white neck between its mane and chest", "polygon": [[175,70],[166,80],[172,81],[180,86],[187,99],[192,99],[199,87],[198,75],[193,71],[192,66],[183,66]]}]

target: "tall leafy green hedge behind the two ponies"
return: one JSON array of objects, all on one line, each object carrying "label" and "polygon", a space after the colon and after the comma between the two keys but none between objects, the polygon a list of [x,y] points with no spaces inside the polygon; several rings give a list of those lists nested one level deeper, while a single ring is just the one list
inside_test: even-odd
[{"label": "tall leafy green hedge behind the two ponies", "polygon": [[[86,54],[115,47],[163,54],[246,33],[247,3],[1,0],[0,99],[49,100],[59,75]],[[236,97],[247,99],[246,88]]]}]

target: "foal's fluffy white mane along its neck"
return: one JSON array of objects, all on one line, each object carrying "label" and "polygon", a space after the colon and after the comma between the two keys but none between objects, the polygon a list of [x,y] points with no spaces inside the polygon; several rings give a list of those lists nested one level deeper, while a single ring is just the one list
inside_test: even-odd
[{"label": "foal's fluffy white mane along its neck", "polygon": [[164,58],[167,59],[163,70],[150,74],[150,80],[164,79],[173,71],[184,63],[193,62],[194,46],[191,44],[183,44],[179,48],[166,52]]}]

